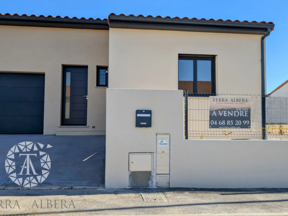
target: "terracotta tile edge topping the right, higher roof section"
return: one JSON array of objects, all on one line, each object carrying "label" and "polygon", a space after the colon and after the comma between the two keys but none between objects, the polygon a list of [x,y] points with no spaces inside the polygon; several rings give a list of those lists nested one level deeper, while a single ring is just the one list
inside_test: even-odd
[{"label": "terracotta tile edge topping the right, higher roof section", "polygon": [[[109,15],[109,17],[112,16],[112,15],[117,16],[116,14],[111,13],[111,14]],[[145,16],[142,15],[142,14],[140,14],[140,15],[138,15],[138,16],[135,16],[134,14],[130,14],[130,15],[128,15],[128,16],[125,15],[125,14],[120,14],[120,15],[118,15],[118,16],[125,16],[125,17],[144,17],[144,18],[145,18]],[[109,17],[108,17],[108,22],[109,22]],[[238,19],[236,19],[236,20],[233,21],[233,20],[231,20],[231,19],[226,19],[226,20],[223,20],[223,19],[213,19],[213,18],[210,18],[210,19],[200,18],[200,19],[198,19],[198,18],[187,18],[187,17],[183,17],[183,18],[174,17],[174,18],[171,18],[171,17],[169,17],[169,16],[166,16],[166,17],[162,17],[162,16],[153,17],[153,16],[151,16],[151,15],[146,16],[146,18],[191,19],[191,20],[206,20],[206,21],[219,21],[219,22],[242,22],[242,23],[257,23],[257,24],[272,24],[272,25],[274,25],[273,22],[266,22],[266,21],[258,22],[258,21],[248,21],[248,20],[240,21],[240,20],[238,20]],[[272,31],[273,31],[273,30],[274,30],[274,29],[272,28]]]}]

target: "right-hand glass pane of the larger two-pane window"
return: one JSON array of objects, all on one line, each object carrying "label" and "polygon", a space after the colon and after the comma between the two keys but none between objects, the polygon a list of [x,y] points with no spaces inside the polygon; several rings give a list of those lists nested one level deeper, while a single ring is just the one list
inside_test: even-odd
[{"label": "right-hand glass pane of the larger two-pane window", "polygon": [[197,61],[197,93],[212,93],[211,60]]}]

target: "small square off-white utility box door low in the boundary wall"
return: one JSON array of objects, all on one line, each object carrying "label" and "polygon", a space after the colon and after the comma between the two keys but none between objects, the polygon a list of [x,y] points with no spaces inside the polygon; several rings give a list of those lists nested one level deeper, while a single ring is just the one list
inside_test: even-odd
[{"label": "small square off-white utility box door low in the boundary wall", "polygon": [[129,153],[129,171],[152,171],[153,153]]}]

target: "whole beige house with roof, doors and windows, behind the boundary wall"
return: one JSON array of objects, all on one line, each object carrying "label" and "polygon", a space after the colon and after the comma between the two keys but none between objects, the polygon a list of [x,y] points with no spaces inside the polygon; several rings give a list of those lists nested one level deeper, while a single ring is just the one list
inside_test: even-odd
[{"label": "whole beige house with roof, doors and windows, behind the boundary wall", "polygon": [[191,92],[195,82],[208,86],[197,93],[261,94],[259,40],[274,27],[114,14],[108,20],[6,14],[0,24],[7,97],[0,133],[57,135],[105,135],[106,88],[178,90],[188,82]]}]

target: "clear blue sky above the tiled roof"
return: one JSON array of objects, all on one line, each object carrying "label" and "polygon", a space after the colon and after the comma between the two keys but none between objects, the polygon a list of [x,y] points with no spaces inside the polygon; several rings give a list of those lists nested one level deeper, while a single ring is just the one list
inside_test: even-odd
[{"label": "clear blue sky above the tiled roof", "polygon": [[288,80],[288,0],[0,0],[0,13],[78,18],[123,13],[272,21],[275,30],[267,37],[267,93]]}]

